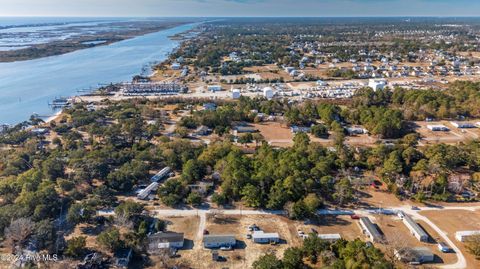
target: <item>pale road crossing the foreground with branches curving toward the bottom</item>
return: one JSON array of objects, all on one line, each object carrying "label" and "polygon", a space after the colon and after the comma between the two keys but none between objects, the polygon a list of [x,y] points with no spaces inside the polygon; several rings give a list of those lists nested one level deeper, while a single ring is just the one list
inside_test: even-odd
[{"label": "pale road crossing the foreground with branches curving toward the bottom", "polygon": [[[457,255],[457,261],[452,264],[446,264],[440,266],[443,269],[463,269],[467,268],[467,261],[463,253],[460,249],[455,245],[455,243],[448,238],[447,234],[442,231],[435,223],[429,220],[427,217],[420,215],[419,212],[421,211],[443,211],[443,210],[468,210],[468,211],[475,211],[480,210],[480,206],[447,206],[447,207],[419,207],[418,210],[413,210],[411,206],[405,205],[401,207],[393,207],[393,208],[383,208],[383,211],[403,211],[409,215],[411,215],[414,219],[419,219],[424,221],[428,224],[432,229],[434,229],[442,240],[444,240],[450,247],[455,251]],[[199,216],[200,217],[200,225],[198,227],[197,239],[201,239],[203,236],[203,230],[205,229],[206,225],[206,215],[207,214],[223,214],[223,215],[284,215],[285,212],[283,210],[241,210],[241,209],[158,209],[153,210],[155,215],[157,216]],[[351,214],[361,214],[361,215],[370,215],[374,214],[372,210],[319,210],[317,212],[320,215],[331,215],[331,214],[340,214],[340,215],[351,215]]]}]

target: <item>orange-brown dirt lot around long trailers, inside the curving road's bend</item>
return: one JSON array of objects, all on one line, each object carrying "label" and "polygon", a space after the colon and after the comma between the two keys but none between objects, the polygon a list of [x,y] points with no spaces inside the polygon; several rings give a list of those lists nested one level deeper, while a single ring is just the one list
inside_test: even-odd
[{"label": "orange-brown dirt lot around long trailers, inside the curving road's bend", "polygon": [[428,243],[418,241],[397,216],[376,215],[374,222],[380,227],[386,238],[386,244],[377,244],[377,246],[387,256],[392,255],[393,249],[399,247],[428,247],[436,256],[434,264],[456,262],[454,253],[442,253],[438,250],[436,239],[440,238],[440,236],[423,222],[418,222],[418,224],[430,235],[431,240]]}]

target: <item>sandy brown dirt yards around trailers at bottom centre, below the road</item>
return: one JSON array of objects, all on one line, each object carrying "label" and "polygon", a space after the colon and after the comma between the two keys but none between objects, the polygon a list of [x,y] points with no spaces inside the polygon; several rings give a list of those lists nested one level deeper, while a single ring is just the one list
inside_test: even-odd
[{"label": "sandy brown dirt yards around trailers at bottom centre, below the road", "polygon": [[[165,218],[164,218],[165,219]],[[275,215],[208,215],[205,229],[209,234],[234,234],[237,239],[237,248],[233,251],[220,251],[219,255],[226,258],[224,262],[212,261],[212,251],[203,248],[202,238],[197,238],[199,219],[198,217],[170,217],[166,218],[170,224],[168,230],[185,232],[187,240],[193,239],[193,246],[187,242],[187,247],[180,250],[181,257],[173,262],[189,264],[194,268],[249,268],[251,264],[265,253],[273,253],[279,258],[289,247],[301,246],[303,239],[297,235],[297,230],[305,233],[315,229],[318,233],[339,233],[343,238],[353,240],[361,238],[360,229],[354,220],[347,216],[329,216],[323,218],[318,224],[305,224],[292,221],[282,216]],[[277,245],[256,244],[247,239],[248,226],[256,224],[265,232],[277,232],[281,243]],[[154,259],[155,261],[155,259]],[[201,261],[201,263],[199,262]],[[157,263],[158,264],[158,263]]]}]

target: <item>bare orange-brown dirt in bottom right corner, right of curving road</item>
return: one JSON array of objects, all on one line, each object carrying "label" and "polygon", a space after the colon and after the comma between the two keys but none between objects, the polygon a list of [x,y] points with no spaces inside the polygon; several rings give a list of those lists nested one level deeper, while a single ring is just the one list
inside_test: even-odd
[{"label": "bare orange-brown dirt in bottom right corner, right of curving road", "polygon": [[[455,232],[466,230],[480,230],[480,211],[467,210],[442,210],[442,211],[422,211],[423,216],[428,217],[440,229],[445,231],[450,240],[460,248],[467,259],[468,268],[480,268],[480,261],[468,253],[465,245],[455,239]],[[445,216],[449,216],[445,218]]]}]

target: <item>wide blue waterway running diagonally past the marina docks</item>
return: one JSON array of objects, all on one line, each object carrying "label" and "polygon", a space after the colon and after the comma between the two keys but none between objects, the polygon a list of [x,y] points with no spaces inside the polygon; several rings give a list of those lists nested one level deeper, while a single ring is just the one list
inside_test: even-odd
[{"label": "wide blue waterway running diagonally past the marina docks", "polygon": [[127,81],[151,62],[165,60],[179,41],[169,36],[192,29],[188,24],[107,46],[30,61],[0,63],[0,123],[28,120],[33,113],[52,115],[55,97],[99,83]]}]

